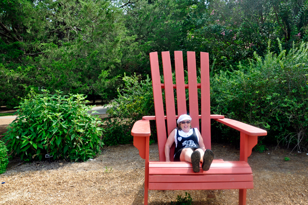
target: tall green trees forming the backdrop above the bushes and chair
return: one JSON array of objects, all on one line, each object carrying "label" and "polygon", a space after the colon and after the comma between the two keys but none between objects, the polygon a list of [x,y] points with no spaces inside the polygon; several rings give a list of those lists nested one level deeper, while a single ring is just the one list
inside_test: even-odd
[{"label": "tall green trees forming the backdrop above the bushes and chair", "polygon": [[207,51],[218,72],[263,57],[268,40],[288,52],[307,40],[307,9],[297,0],[1,1],[0,105],[31,88],[113,98],[124,72],[146,79],[151,51]]}]

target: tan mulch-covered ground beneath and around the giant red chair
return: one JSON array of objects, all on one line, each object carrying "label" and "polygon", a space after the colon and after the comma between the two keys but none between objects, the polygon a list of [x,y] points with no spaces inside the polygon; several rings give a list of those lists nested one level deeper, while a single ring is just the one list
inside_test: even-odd
[{"label": "tan mulch-covered ground beneath and around the giant red chair", "polygon": [[[268,148],[248,158],[255,188],[247,190],[247,204],[308,204],[308,155]],[[215,158],[239,159],[239,150],[230,146],[213,144],[212,150]],[[158,160],[157,144],[150,145],[150,160]],[[132,144],[105,147],[102,155],[83,163],[15,159],[0,182],[5,182],[0,204],[143,204],[144,160]],[[238,190],[187,192],[195,205],[238,202]],[[149,204],[170,204],[178,195],[185,191],[149,191]]]}]

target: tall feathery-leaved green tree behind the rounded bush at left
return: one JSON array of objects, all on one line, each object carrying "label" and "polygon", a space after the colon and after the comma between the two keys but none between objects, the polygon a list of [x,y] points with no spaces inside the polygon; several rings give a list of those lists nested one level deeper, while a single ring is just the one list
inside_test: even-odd
[{"label": "tall feathery-leaved green tree behind the rounded bush at left", "polygon": [[110,1],[0,3],[0,104],[34,87],[106,98],[119,75],[123,12]]}]

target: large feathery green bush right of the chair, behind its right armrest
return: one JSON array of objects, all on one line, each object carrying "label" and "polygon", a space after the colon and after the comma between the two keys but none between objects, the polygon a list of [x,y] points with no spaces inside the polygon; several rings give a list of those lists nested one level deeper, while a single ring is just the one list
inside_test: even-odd
[{"label": "large feathery green bush right of the chair, behind its right armrest", "polygon": [[[267,142],[283,142],[308,148],[308,44],[301,43],[286,53],[256,53],[248,65],[233,72],[211,73],[211,111],[267,129]],[[270,44],[268,45],[268,48]],[[225,141],[238,141],[228,133]],[[233,137],[237,136],[237,137]]]}]

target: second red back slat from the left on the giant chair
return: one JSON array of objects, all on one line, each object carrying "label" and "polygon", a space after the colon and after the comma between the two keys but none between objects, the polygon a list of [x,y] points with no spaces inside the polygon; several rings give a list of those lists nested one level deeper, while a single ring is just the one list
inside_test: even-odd
[{"label": "second red back slat from the left on the giant chair", "polygon": [[[168,134],[177,126],[176,122],[176,107],[175,107],[175,96],[172,82],[171,72],[171,61],[169,51],[162,52],[163,70],[164,70],[164,83],[165,83],[165,99],[166,99],[166,117],[167,117],[167,128]],[[170,159],[174,151],[171,154]]]}]

